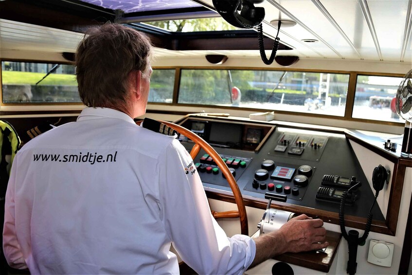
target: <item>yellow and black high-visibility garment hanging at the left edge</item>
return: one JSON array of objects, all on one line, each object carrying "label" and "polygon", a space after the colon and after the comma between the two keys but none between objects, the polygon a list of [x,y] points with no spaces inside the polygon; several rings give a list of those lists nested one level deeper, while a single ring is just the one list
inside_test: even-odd
[{"label": "yellow and black high-visibility garment hanging at the left edge", "polygon": [[11,165],[20,145],[21,141],[15,128],[7,121],[0,120],[0,201],[6,196]]}]

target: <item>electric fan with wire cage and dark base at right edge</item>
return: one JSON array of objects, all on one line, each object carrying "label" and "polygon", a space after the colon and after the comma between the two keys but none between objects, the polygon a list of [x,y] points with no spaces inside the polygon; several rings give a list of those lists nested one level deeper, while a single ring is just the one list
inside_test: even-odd
[{"label": "electric fan with wire cage and dark base at right edge", "polygon": [[396,92],[396,112],[406,120],[401,156],[412,158],[412,70],[405,74]]}]

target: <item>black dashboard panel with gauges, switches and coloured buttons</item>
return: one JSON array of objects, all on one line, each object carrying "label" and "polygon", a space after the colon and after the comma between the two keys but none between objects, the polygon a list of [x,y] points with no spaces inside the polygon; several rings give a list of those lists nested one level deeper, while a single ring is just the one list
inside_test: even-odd
[{"label": "black dashboard panel with gauges, switches and coloured buttons", "polygon": [[[339,202],[317,199],[319,188],[324,187],[322,179],[325,175],[339,176],[346,181],[355,177],[355,181],[363,184],[353,194],[354,203],[345,206],[345,215],[368,216],[374,193],[342,132],[215,118],[187,119],[181,125],[192,129],[215,148],[231,169],[244,196],[264,199],[265,193],[271,192],[285,195],[288,204],[338,213]],[[181,137],[181,141],[188,150],[193,147],[185,137]],[[204,186],[230,191],[214,160],[203,150],[194,162]],[[334,193],[339,194],[339,190]],[[374,220],[385,221],[378,207],[372,213]]]}]

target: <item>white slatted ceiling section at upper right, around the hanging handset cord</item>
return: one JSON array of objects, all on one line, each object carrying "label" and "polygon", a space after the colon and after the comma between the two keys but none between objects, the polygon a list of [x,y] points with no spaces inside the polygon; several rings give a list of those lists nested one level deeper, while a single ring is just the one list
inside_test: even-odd
[{"label": "white slatted ceiling section at upper right, around the hanging handset cord", "polygon": [[[211,0],[203,2],[213,6]],[[372,18],[370,24],[376,32],[376,44],[361,4],[367,6]],[[265,0],[256,6],[265,8],[263,31],[269,37],[275,37],[277,32],[277,26],[269,27],[271,20],[297,21],[294,27],[281,26],[279,37],[295,48],[300,57],[366,60],[379,60],[381,57],[383,61],[399,61],[405,23],[411,16],[408,4],[411,0]],[[306,38],[319,42],[301,42]],[[404,61],[411,61],[410,46]]]}]

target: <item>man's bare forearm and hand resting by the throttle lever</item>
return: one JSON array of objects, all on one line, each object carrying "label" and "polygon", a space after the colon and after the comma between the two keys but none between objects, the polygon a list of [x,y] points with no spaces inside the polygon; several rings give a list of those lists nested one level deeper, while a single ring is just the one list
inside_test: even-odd
[{"label": "man's bare forearm and hand resting by the throttle lever", "polygon": [[279,230],[255,239],[256,255],[250,267],[285,252],[325,248],[329,245],[325,239],[326,229],[323,227],[323,220],[300,215],[289,220]]}]

